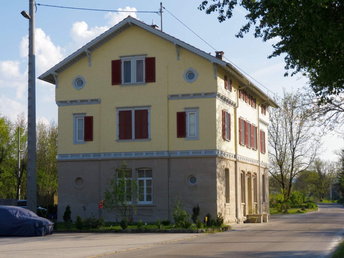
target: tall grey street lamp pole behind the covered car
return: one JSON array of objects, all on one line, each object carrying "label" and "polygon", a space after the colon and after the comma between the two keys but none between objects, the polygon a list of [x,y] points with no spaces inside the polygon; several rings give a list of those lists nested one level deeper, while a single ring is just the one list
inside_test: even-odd
[{"label": "tall grey street lamp pole behind the covered car", "polygon": [[29,80],[28,80],[28,169],[27,169],[27,207],[37,213],[36,178],[36,71],[35,71],[35,1],[29,0],[29,14],[21,14],[29,19]]}]

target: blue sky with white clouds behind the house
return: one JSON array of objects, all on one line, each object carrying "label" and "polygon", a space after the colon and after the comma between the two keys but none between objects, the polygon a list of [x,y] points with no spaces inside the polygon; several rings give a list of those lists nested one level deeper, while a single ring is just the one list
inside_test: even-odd
[{"label": "blue sky with white clouds behind the house", "polygon": [[[162,15],[163,31],[213,55],[215,55],[215,50],[224,51],[225,57],[230,62],[251,76],[253,79],[246,75],[270,96],[273,96],[272,92],[281,95],[283,88],[287,91],[297,90],[307,83],[306,78],[283,76],[285,72],[283,57],[267,58],[273,50],[271,45],[277,41],[264,43],[261,39],[255,39],[252,32],[246,34],[243,39],[235,37],[235,33],[246,22],[244,9],[236,8],[233,18],[219,23],[216,13],[208,15],[197,9],[201,2],[202,0],[162,1],[165,8]],[[36,4],[103,10],[158,11],[160,9],[160,1],[143,0],[36,0]],[[2,10],[0,16],[2,24],[0,30],[3,35],[0,41],[2,50],[0,114],[14,120],[21,112],[27,114],[29,23],[20,12],[23,10],[29,12],[29,1],[3,1]],[[155,24],[161,26],[160,16],[156,13],[74,10],[37,5],[35,13],[36,77],[123,20],[127,15],[148,24],[151,24],[154,19]],[[38,79],[36,80],[36,118],[45,122],[57,120],[54,85]],[[332,150],[343,146],[344,141],[342,139],[342,143],[338,145],[335,138],[329,139],[324,146],[327,148],[328,155],[323,158],[331,159]],[[330,144],[334,140],[337,141],[337,148]]]}]

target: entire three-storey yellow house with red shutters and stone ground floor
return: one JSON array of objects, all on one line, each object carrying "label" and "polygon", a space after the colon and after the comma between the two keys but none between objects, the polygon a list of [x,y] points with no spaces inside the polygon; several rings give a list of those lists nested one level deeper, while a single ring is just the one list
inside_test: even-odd
[{"label": "entire three-storey yellow house with red shutters and stone ground floor", "polygon": [[[42,74],[56,85],[58,218],[98,212],[121,161],[141,185],[135,221],[173,219],[171,198],[227,224],[269,213],[269,107],[223,53],[130,16]],[[104,214],[115,221],[116,214]],[[74,218],[75,219],[75,218]]]}]

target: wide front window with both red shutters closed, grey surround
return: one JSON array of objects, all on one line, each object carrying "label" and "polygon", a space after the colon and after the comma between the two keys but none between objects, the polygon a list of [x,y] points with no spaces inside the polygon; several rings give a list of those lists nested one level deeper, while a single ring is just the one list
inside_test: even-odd
[{"label": "wide front window with both red shutters closed, grey surround", "polygon": [[117,108],[117,140],[150,139],[150,108]]}]

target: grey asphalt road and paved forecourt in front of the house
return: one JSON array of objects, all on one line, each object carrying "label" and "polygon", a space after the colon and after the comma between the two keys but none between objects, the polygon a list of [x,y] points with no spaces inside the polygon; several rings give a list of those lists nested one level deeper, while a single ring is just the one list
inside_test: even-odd
[{"label": "grey asphalt road and paved forecourt in front of the house", "polygon": [[62,234],[0,237],[0,257],[329,257],[344,237],[344,207],[273,215],[217,234]]}]

